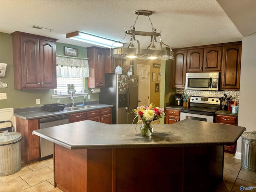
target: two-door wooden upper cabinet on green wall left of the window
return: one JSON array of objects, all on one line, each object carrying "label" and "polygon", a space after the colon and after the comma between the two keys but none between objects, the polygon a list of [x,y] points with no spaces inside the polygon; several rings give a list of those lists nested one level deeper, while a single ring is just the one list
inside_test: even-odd
[{"label": "two-door wooden upper cabinet on green wall left of the window", "polygon": [[14,88],[56,88],[56,41],[58,39],[13,32]]}]

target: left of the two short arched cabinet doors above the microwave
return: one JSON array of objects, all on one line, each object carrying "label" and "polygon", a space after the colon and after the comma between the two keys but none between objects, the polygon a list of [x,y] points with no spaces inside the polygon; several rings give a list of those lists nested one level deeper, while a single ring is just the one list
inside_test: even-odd
[{"label": "left of the two short arched cabinet doors above the microwave", "polygon": [[189,49],[187,56],[187,72],[203,71],[204,49]]}]

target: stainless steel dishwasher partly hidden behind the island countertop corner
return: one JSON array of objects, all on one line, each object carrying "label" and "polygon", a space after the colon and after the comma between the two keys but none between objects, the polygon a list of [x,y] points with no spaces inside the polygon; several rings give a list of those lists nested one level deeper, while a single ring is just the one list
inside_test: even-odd
[{"label": "stainless steel dishwasher partly hidden behind the island countertop corner", "polygon": [[[68,124],[68,115],[54,116],[39,119],[39,129],[48,128],[57,125]],[[40,158],[39,161],[53,157],[53,142],[44,138],[39,139]]]}]

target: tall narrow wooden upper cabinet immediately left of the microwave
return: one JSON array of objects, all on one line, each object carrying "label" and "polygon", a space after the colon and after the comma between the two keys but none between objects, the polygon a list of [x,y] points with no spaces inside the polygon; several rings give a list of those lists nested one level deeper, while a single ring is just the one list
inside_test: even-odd
[{"label": "tall narrow wooden upper cabinet immediately left of the microwave", "polygon": [[174,52],[172,64],[172,88],[185,88],[187,67],[187,50]]}]

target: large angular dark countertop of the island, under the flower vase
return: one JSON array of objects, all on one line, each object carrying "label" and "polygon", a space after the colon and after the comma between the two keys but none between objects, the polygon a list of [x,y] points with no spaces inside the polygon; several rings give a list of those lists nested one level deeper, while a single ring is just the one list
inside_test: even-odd
[{"label": "large angular dark countertop of the island, under the flower vase", "polygon": [[153,124],[150,137],[140,133],[135,124],[108,125],[90,120],[34,130],[42,138],[68,149],[188,147],[234,144],[244,132],[240,126],[196,120],[175,124]]}]

